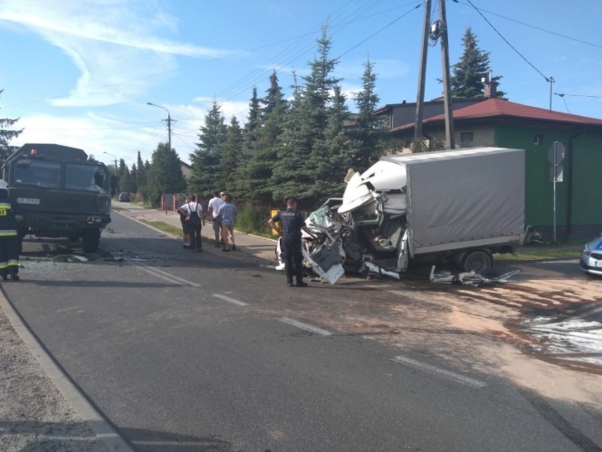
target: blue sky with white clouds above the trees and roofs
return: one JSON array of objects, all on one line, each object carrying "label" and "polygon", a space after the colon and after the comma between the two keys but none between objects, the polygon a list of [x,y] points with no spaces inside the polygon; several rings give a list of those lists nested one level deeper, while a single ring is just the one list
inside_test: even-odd
[{"label": "blue sky with white clouds above the trees and roofs", "polygon": [[[432,0],[432,21],[438,0]],[[415,8],[420,5],[420,8]],[[226,121],[247,116],[276,69],[285,95],[307,74],[329,24],[335,76],[360,90],[363,64],[377,74],[379,106],[415,102],[423,1],[406,0],[0,0],[0,117],[20,118],[11,144],[57,143],[100,161],[138,151],[150,160],[167,141],[189,161],[213,98]],[[492,26],[480,16],[487,18]],[[509,100],[602,118],[601,0],[448,0],[450,64],[471,27],[490,52]],[[501,36],[500,36],[501,35]],[[504,39],[511,44],[509,46]],[[519,52],[519,53],[517,53]],[[522,56],[521,56],[522,55]],[[442,93],[439,43],[430,47],[425,100]],[[105,153],[107,152],[107,153]],[[110,155],[112,154],[112,155]]]}]

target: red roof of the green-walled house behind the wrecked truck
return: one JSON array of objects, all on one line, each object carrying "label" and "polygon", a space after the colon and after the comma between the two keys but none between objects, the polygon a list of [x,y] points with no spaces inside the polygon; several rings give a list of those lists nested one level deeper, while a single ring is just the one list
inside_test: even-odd
[{"label": "red roof of the green-walled house behind the wrecked truck", "polygon": [[[569,113],[555,112],[545,110],[544,108],[530,107],[520,103],[509,102],[502,99],[487,99],[483,102],[468,105],[468,107],[459,108],[453,112],[454,120],[469,120],[478,118],[517,118],[524,120],[541,120],[548,122],[565,122],[572,124],[590,124],[602,126],[602,120],[595,117],[586,117],[571,115]],[[437,115],[427,118],[423,123],[432,123],[445,120],[445,115]],[[415,123],[403,124],[391,130],[403,130],[414,127]]]}]

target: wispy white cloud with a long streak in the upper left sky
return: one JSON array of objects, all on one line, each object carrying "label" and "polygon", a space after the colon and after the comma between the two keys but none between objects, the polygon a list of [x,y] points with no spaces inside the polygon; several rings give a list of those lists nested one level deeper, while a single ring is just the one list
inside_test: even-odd
[{"label": "wispy white cloud with a long streak in the upper left sky", "polygon": [[0,0],[3,22],[40,35],[71,58],[80,75],[69,97],[54,101],[60,106],[112,105],[136,97],[177,69],[175,56],[232,54],[160,37],[166,30],[177,33],[177,20],[146,0]]}]

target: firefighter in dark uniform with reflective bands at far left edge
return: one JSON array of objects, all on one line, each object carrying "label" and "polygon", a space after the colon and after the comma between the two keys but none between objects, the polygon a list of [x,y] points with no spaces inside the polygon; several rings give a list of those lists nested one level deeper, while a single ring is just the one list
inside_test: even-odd
[{"label": "firefighter in dark uniform with reflective bands at far left edge", "polygon": [[0,277],[19,280],[19,237],[14,202],[8,197],[8,184],[0,180]]}]

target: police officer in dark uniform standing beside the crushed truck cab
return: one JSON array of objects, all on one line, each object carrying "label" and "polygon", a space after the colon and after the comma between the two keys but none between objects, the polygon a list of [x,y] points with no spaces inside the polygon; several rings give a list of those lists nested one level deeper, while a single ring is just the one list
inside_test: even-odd
[{"label": "police officer in dark uniform standing beside the crushed truck cab", "polygon": [[[282,229],[276,226],[280,221]],[[305,220],[300,211],[297,211],[297,199],[290,197],[286,200],[286,210],[278,211],[271,217],[268,224],[274,231],[282,234],[281,248],[284,260],[284,272],[286,274],[286,283],[289,287],[293,286],[293,262],[295,264],[295,275],[297,287],[307,287],[307,282],[303,281],[303,266],[301,253],[301,230],[305,228]]]}]

